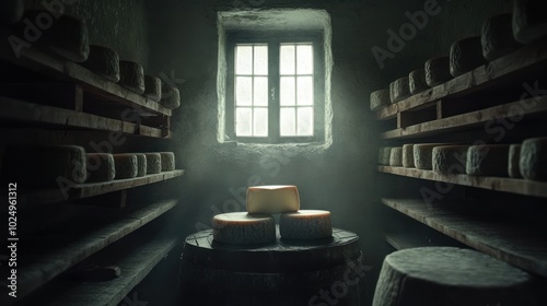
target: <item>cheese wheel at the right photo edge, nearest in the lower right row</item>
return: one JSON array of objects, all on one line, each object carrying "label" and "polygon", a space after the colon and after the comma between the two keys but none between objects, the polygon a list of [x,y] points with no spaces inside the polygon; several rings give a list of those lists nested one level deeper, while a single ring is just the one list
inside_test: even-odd
[{"label": "cheese wheel at the right photo edge, nearest in the lower right row", "polygon": [[519,166],[524,178],[547,180],[547,138],[526,139],[522,143]]}]

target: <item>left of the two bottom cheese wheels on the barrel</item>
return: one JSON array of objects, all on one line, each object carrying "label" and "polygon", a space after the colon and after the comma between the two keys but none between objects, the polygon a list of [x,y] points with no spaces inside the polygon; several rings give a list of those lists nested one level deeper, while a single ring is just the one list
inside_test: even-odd
[{"label": "left of the two bottom cheese wheels on the barrel", "polygon": [[268,214],[232,212],[212,219],[213,240],[228,245],[260,245],[276,240],[276,221]]}]

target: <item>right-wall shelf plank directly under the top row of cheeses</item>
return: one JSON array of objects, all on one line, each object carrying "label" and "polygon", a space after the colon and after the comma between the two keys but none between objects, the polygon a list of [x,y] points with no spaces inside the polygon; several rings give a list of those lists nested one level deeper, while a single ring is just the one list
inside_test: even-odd
[{"label": "right-wall shelf plank directly under the top row of cheeses", "polygon": [[442,98],[456,98],[488,87],[502,86],[511,79],[529,78],[529,74],[539,73],[546,69],[547,44],[545,40],[540,40],[441,85],[388,105],[376,111],[376,119],[392,119],[399,111],[432,106]]}]

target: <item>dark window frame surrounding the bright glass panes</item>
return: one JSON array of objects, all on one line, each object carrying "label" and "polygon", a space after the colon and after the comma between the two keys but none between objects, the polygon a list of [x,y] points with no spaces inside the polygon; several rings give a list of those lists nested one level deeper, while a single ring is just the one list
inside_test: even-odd
[{"label": "dark window frame surrounding the bright glass panes", "polygon": [[[280,136],[279,105],[279,47],[281,44],[312,43],[314,56],[314,134],[311,137]],[[235,136],[235,45],[267,44],[268,45],[268,136],[236,137]],[[232,140],[248,143],[310,143],[325,140],[325,56],[323,31],[230,31],[226,32],[226,101],[225,101],[225,133]],[[275,98],[271,97],[275,90]]]}]

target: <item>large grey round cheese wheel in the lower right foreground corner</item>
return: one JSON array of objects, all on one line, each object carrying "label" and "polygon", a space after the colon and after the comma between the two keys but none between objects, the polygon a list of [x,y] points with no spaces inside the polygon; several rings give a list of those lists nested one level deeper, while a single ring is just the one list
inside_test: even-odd
[{"label": "large grey round cheese wheel in the lower right foreground corner", "polygon": [[384,258],[373,306],[536,305],[533,276],[486,254],[419,247]]}]

